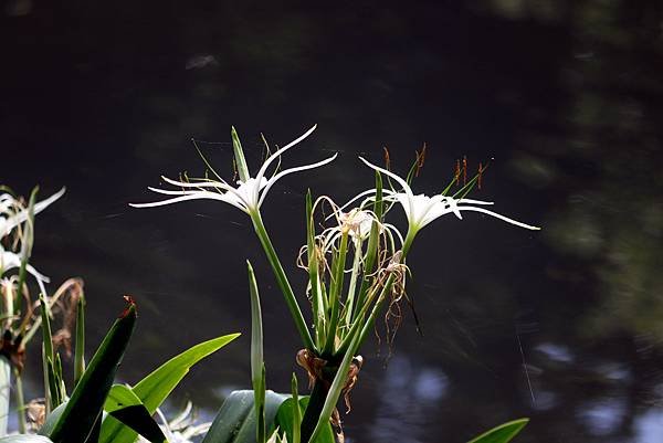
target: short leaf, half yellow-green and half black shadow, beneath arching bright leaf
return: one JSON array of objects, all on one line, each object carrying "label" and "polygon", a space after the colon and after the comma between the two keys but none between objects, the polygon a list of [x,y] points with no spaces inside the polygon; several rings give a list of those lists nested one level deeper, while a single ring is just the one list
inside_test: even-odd
[{"label": "short leaf, half yellow-green and half black shadow, beneath arching bright leaf", "polygon": [[161,428],[151,418],[151,414],[131,388],[124,384],[114,384],[106,398],[104,410],[150,442],[166,442],[166,435],[161,432]]}]

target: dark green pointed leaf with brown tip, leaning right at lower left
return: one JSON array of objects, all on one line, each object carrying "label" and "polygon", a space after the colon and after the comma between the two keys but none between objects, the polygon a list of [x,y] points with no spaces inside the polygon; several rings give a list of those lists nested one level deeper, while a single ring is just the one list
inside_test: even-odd
[{"label": "dark green pointed leaf with brown tip, leaning right at lower left", "polygon": [[127,308],[110,327],[49,433],[48,436],[54,443],[84,442],[98,420],[136,325],[136,305],[130,299],[128,302]]}]

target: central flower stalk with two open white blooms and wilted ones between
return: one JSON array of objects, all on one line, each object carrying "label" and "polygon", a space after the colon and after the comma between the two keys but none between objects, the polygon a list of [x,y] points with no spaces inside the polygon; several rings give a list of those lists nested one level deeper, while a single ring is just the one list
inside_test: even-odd
[{"label": "central flower stalk with two open white blooms and wilted ones between", "polygon": [[[185,175],[173,180],[161,177],[175,189],[149,189],[167,196],[164,200],[131,204],[151,208],[210,199],[229,203],[250,217],[302,339],[303,349],[297,352],[296,361],[306,370],[313,388],[301,425],[304,442],[315,441],[329,420],[337,436],[343,439],[336,404],[343,395],[347,409],[350,409],[349,392],[357,383],[364,362],[358,351],[375,327],[379,313],[385,313],[387,342],[390,345],[393,340],[402,318],[401,304],[408,300],[406,283],[410,270],[407,256],[421,229],[446,214],[462,219],[463,212],[480,212],[519,228],[539,229],[486,209],[492,202],[466,198],[475,186],[481,186],[485,168],[480,166],[476,176],[467,179],[465,159],[462,167],[459,161],[451,182],[429,197],[415,194],[411,188],[412,179],[423,166],[424,149],[418,152],[404,178],[360,158],[375,171],[373,188],[359,192],[343,205],[327,196],[315,201],[311,191],[306,196],[306,244],[297,259],[298,265],[307,273],[306,304],[311,308],[311,318],[306,320],[301,300],[292,289],[263,223],[261,205],[282,177],[325,166],[336,158],[334,155],[312,165],[281,170],[281,156],[302,143],[315,128],[269,155],[255,176],[249,169],[239,136],[232,128],[234,165],[239,175],[236,184],[224,180],[199,150],[208,167],[203,178]],[[271,152],[264,137],[263,141]],[[394,207],[400,207],[406,213],[408,229],[404,235],[387,220]],[[323,223],[319,223],[316,215],[325,209],[328,214],[324,214]],[[320,224],[323,229],[318,232],[316,228]],[[253,273],[250,274],[253,278]],[[260,378],[260,369],[255,368],[254,387],[261,387],[260,381],[255,381]]]}]

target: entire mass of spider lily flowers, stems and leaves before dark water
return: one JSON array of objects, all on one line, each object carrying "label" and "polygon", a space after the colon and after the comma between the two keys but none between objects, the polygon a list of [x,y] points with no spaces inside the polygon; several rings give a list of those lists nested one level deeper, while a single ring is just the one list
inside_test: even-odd
[{"label": "entire mass of spider lily flowers, stems and leaves before dark water", "polygon": [[[213,423],[197,424],[190,409],[178,418],[166,420],[159,405],[189,371],[191,366],[236,338],[238,334],[208,340],[171,358],[141,381],[131,386],[115,383],[117,367],[134,333],[136,303],[125,296],[127,305],[108,334],[85,363],[85,304],[80,279],[66,282],[52,296],[45,288],[48,277],[30,265],[33,243],[34,214],[45,209],[64,193],[36,202],[36,190],[28,203],[7,191],[0,196],[0,273],[2,275],[3,346],[0,354],[0,389],[6,393],[11,386],[10,371],[17,383],[20,434],[2,437],[7,425],[0,421],[0,443],[187,443],[196,435],[204,435],[203,443],[221,442],[343,442],[344,433],[337,403],[344,399],[349,412],[350,391],[359,380],[364,358],[361,345],[381,318],[383,337],[391,347],[402,319],[403,303],[409,300],[406,286],[410,275],[407,257],[421,229],[438,218],[463,212],[480,212],[509,224],[537,230],[486,209],[491,202],[469,199],[467,193],[481,186],[485,168],[480,166],[473,178],[467,178],[466,161],[459,161],[449,186],[432,197],[415,194],[411,183],[423,166],[425,151],[404,178],[387,168],[360,160],[373,170],[375,187],[359,192],[340,205],[330,197],[314,199],[308,191],[305,201],[306,242],[299,251],[297,264],[307,279],[306,299],[297,297],[290,277],[282,266],[267,230],[261,205],[267,192],[282,177],[332,162],[336,155],[322,161],[281,169],[282,155],[302,143],[315,126],[294,141],[269,155],[255,175],[251,175],[234,128],[231,130],[236,183],[222,179],[206,161],[204,178],[183,176],[178,180],[164,177],[175,189],[149,188],[166,196],[154,203],[134,207],[158,207],[181,201],[211,199],[231,204],[245,212],[263,246],[278,287],[284,296],[303,348],[296,362],[304,368],[309,395],[299,395],[297,378],[293,373],[291,392],[275,393],[266,389],[263,360],[263,329],[260,295],[255,274],[248,263],[251,297],[251,381],[252,390],[235,391],[219,410]],[[264,138],[263,138],[264,140]],[[270,146],[265,140],[270,152]],[[402,209],[408,229],[402,234],[389,221],[394,209]],[[39,287],[39,298],[30,297],[25,282],[31,275]],[[23,305],[20,300],[24,299]],[[311,308],[305,319],[302,302]],[[63,327],[53,333],[54,313],[63,315]],[[41,328],[43,344],[44,399],[23,404],[20,389],[22,352],[25,342]],[[72,331],[74,331],[72,334]],[[74,339],[75,338],[75,339]],[[73,386],[67,388],[62,369],[61,349],[73,352]],[[0,398],[0,413],[9,414],[9,395]],[[24,424],[25,411],[32,416],[33,431]],[[155,414],[157,419],[155,419]],[[159,424],[160,422],[160,424]],[[505,423],[474,439],[471,443],[506,443],[526,424],[522,419]],[[4,422],[6,423],[6,422]],[[4,428],[2,428],[4,426]]]}]

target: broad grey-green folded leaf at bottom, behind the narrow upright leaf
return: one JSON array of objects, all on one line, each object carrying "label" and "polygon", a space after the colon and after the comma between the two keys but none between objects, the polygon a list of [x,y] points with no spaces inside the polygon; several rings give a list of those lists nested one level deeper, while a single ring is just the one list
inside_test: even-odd
[{"label": "broad grey-green folded leaf at bottom, behind the narrow upright leaf", "polygon": [[[290,394],[265,392],[265,423],[271,434],[281,404]],[[219,409],[202,443],[255,443],[255,403],[252,390],[233,391]]]}]

